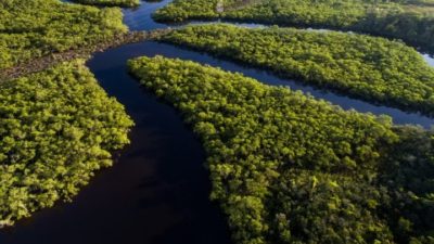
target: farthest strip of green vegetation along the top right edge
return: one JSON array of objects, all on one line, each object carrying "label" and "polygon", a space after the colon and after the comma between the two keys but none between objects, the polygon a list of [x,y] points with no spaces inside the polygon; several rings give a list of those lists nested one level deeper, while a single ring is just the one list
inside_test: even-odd
[{"label": "farthest strip of green vegetation along the top right edge", "polygon": [[356,30],[399,38],[434,51],[433,4],[431,0],[174,0],[154,17],[163,22],[222,17]]}]

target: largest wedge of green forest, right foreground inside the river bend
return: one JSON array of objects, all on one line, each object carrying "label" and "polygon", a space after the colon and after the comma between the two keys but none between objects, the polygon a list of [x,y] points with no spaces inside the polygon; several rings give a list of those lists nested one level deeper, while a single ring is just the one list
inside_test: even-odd
[{"label": "largest wedge of green forest, right foreground inside the river bend", "polygon": [[434,242],[433,132],[193,62],[129,67],[202,139],[238,243]]}]

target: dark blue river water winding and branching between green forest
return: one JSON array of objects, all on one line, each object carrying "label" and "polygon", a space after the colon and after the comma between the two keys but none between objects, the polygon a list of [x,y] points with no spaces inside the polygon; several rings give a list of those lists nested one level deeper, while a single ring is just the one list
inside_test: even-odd
[{"label": "dark blue river water winding and branching between green forest", "polygon": [[[165,28],[151,13],[170,0],[125,10],[131,30]],[[251,25],[247,25],[251,26]],[[88,62],[101,86],[136,121],[131,145],[74,198],[0,231],[0,244],[229,244],[218,206],[208,201],[210,183],[200,142],[180,116],[140,88],[127,73],[128,59],[156,54],[193,60],[240,72],[270,85],[289,86],[344,108],[386,114],[397,124],[431,127],[432,118],[324,92],[266,72],[174,46],[144,41],[97,53]],[[434,61],[424,55],[434,65]]]}]

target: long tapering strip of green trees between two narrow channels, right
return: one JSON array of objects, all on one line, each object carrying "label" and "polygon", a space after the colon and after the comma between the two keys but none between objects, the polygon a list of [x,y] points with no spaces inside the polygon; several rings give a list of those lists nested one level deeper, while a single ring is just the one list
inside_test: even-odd
[{"label": "long tapering strip of green trees between two narrow channels, right", "polygon": [[163,41],[209,51],[319,87],[434,115],[434,68],[396,41],[335,31],[200,25]]}]

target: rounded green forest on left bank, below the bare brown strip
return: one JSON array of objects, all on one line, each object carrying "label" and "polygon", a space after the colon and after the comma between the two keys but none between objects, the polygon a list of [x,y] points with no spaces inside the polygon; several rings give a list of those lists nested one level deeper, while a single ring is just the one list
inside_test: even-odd
[{"label": "rounded green forest on left bank, below the bare brown strip", "polygon": [[84,61],[1,81],[0,226],[77,194],[131,126]]}]

